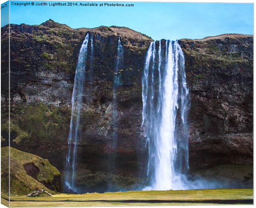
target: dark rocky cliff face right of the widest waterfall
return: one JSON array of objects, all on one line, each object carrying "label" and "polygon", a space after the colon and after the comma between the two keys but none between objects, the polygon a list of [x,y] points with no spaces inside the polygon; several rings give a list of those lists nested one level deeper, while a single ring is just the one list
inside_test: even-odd
[{"label": "dark rocky cliff face right of the widest waterfall", "polygon": [[253,37],[180,40],[191,92],[190,164],[252,164]]}]

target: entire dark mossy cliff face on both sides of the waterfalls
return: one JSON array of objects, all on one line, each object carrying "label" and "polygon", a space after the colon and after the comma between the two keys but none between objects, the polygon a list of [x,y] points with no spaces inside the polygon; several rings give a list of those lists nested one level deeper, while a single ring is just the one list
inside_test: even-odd
[{"label": "entire dark mossy cliff face on both sides of the waterfalls", "polygon": [[[135,184],[143,185],[147,167],[141,77],[152,41],[134,30],[115,26],[72,29],[52,20],[38,26],[11,25],[11,146],[49,159],[63,173],[76,63],[88,32],[94,40],[93,56],[88,57],[93,73],[87,65],[79,126],[79,183],[90,191],[134,189]],[[119,70],[119,139],[114,150],[112,89],[118,36],[124,64]],[[4,27],[2,44],[7,40]],[[252,164],[253,37],[221,35],[179,43],[191,95],[191,170]],[[7,63],[1,64],[6,68]],[[2,100],[6,99],[3,89]],[[2,145],[7,145],[7,132],[3,125]]]}]

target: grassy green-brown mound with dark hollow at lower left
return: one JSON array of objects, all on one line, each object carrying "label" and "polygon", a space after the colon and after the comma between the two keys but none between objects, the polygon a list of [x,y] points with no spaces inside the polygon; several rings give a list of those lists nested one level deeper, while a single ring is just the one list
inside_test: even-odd
[{"label": "grassy green-brown mound with dark hollow at lower left", "polygon": [[[1,148],[1,192],[9,191],[8,183],[8,147]],[[24,164],[33,163],[39,169],[37,180],[29,176]],[[50,164],[47,159],[43,159],[34,154],[19,151],[10,147],[10,178],[11,178],[11,195],[26,195],[38,189],[47,189],[42,183],[52,183],[55,177],[60,177],[60,173]],[[53,189],[55,187],[52,187]],[[49,189],[47,189],[50,191]],[[52,191],[50,191],[52,192]],[[53,192],[52,192],[53,193]]]}]

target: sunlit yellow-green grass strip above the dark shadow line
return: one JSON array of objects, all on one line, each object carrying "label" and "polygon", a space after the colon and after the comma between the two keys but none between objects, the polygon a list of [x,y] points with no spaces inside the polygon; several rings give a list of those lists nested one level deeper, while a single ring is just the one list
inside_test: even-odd
[{"label": "sunlit yellow-green grass strip above the dark shadow line", "polygon": [[[241,200],[253,199],[253,189],[200,189],[200,190],[178,190],[178,191],[133,191],[133,192],[109,192],[104,194],[56,194],[53,197],[26,197],[12,196],[11,201],[49,201],[49,202],[121,202],[125,201],[178,201],[180,202],[201,202],[209,200]],[[166,202],[167,203],[167,202]]]}]

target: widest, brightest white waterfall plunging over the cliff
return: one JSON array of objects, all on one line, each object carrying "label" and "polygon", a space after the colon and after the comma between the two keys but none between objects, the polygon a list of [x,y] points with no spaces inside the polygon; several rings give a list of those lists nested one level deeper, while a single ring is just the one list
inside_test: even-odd
[{"label": "widest, brightest white waterfall plunging over the cliff", "polygon": [[145,189],[187,187],[189,100],[180,45],[170,40],[152,42],[142,76],[142,127],[149,151],[150,184]]}]

